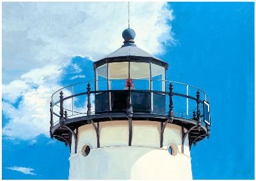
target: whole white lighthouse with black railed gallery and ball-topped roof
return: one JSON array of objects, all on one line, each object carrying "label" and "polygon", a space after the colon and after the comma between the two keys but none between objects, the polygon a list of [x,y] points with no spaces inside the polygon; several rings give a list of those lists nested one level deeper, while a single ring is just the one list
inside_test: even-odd
[{"label": "whole white lighthouse with black railed gallery and ball-topped roof", "polygon": [[95,80],[52,95],[51,138],[70,147],[69,178],[191,179],[191,145],[210,135],[209,98],[166,80],[168,64],[138,48],[133,29],[122,36],[93,63]]}]

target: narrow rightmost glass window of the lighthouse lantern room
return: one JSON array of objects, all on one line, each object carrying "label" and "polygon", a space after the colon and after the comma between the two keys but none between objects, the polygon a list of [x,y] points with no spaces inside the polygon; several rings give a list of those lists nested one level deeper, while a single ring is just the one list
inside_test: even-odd
[{"label": "narrow rightmost glass window of the lighthouse lantern room", "polygon": [[151,64],[152,90],[165,91],[165,68]]}]

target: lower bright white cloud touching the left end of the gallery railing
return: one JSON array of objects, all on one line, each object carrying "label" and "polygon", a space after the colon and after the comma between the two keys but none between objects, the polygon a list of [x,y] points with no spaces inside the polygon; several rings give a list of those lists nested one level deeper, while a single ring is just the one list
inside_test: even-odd
[{"label": "lower bright white cloud touching the left end of the gallery railing", "polygon": [[40,85],[21,94],[19,108],[3,102],[3,113],[9,122],[3,127],[3,135],[9,138],[31,140],[39,134],[49,136],[49,103],[52,92],[60,87]]}]

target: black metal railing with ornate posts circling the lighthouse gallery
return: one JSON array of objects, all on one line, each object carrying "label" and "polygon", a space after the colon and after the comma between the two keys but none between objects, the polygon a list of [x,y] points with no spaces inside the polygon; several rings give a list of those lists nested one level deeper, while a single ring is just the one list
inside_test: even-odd
[{"label": "black metal railing with ornate posts circling the lighthouse gallery", "polygon": [[[132,117],[132,113],[145,112],[180,117],[197,122],[198,129],[201,124],[209,126],[204,115],[204,106],[205,103],[209,104],[209,97],[204,91],[180,82],[149,81],[164,82],[164,90],[156,91],[152,90],[152,87],[150,90],[131,89],[131,82],[128,82],[125,90],[95,90],[96,83],[100,81],[63,87],[52,94],[51,128],[59,122],[62,125],[65,120],[75,117],[115,112],[127,113],[127,117]],[[165,87],[169,87],[169,90],[166,91]]]}]

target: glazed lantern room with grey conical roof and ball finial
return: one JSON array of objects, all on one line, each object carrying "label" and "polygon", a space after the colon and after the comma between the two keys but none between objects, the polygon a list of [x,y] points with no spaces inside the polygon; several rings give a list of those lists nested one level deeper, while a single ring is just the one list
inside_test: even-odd
[{"label": "glazed lantern room with grey conical roof and ball finial", "polygon": [[129,82],[134,112],[165,112],[165,94],[157,91],[165,92],[168,64],[138,48],[132,29],[125,29],[122,35],[124,45],[93,64],[98,91],[95,112],[124,112]]}]

